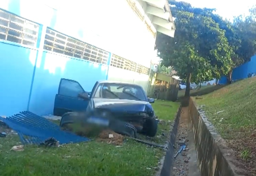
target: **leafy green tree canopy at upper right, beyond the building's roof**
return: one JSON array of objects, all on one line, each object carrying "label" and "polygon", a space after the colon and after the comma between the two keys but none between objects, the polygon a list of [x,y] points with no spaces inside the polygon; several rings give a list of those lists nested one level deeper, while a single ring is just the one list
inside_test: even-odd
[{"label": "leafy green tree canopy at upper right, beyond the building's roof", "polygon": [[248,17],[224,20],[215,9],[193,8],[189,3],[169,1],[175,18],[175,37],[158,33],[156,46],[162,64],[172,66],[187,82],[200,83],[226,75],[256,53],[256,9]]}]

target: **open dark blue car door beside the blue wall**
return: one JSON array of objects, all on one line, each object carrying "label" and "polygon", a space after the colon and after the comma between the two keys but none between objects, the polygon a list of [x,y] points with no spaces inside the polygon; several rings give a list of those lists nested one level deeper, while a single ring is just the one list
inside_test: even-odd
[{"label": "open dark blue car door beside the blue wall", "polygon": [[79,96],[87,93],[82,86],[74,80],[62,78],[59,83],[58,94],[54,101],[54,116],[62,116],[66,112],[85,111],[89,98]]}]

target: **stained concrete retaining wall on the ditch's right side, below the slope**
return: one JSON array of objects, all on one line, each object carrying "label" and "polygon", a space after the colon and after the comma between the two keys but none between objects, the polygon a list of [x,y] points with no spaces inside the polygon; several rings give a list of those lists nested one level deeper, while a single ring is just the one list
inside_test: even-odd
[{"label": "stained concrete retaining wall on the ditch's right side, below the slope", "polygon": [[234,152],[226,147],[214,126],[200,114],[197,105],[189,99],[189,113],[196,145],[198,165],[202,176],[242,176],[232,157]]}]

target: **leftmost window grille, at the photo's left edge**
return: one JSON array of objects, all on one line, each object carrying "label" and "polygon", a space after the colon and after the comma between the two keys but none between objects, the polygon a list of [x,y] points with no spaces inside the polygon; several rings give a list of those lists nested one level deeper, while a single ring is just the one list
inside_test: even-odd
[{"label": "leftmost window grille, at the photo's left edge", "polygon": [[39,25],[0,10],[0,39],[36,46]]}]

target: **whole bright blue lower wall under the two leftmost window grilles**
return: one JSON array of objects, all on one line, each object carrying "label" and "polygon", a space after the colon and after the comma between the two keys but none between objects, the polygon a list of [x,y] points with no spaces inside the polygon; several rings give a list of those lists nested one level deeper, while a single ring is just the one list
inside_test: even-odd
[{"label": "whole bright blue lower wall under the two leftmost window grilles", "polygon": [[0,41],[0,115],[51,114],[61,78],[74,79],[88,91],[107,78],[107,65],[46,51],[40,56],[39,49],[10,43]]}]

